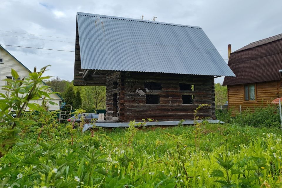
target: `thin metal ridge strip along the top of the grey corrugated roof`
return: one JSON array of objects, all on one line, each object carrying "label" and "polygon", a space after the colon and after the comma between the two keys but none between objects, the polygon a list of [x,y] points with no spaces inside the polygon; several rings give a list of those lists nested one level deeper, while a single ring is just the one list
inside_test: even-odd
[{"label": "thin metal ridge strip along the top of the grey corrugated roof", "polygon": [[202,29],[202,27],[199,27],[199,26],[189,26],[189,25],[183,25],[183,24],[172,24],[172,23],[167,23],[167,22],[140,20],[140,19],[134,19],[134,18],[118,17],[118,16],[107,16],[107,15],[91,14],[91,13],[85,13],[85,12],[76,12],[76,14],[77,15],[82,15],[82,16],[93,16],[93,17],[96,16],[96,17],[102,17],[102,18],[112,18],[112,19],[129,20],[129,21],[140,21],[140,22],[148,22],[148,23],[154,23],[154,24],[164,24],[164,25],[173,25],[173,26],[182,26],[182,27],[191,27],[191,28]]}]

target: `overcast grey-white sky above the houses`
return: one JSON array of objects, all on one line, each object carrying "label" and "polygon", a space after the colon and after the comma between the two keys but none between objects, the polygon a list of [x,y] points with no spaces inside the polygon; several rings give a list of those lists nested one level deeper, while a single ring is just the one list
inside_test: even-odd
[{"label": "overcast grey-white sky above the houses", "polygon": [[[0,0],[0,4],[0,44],[15,46],[74,51],[77,11],[134,19],[144,15],[146,20],[157,16],[160,22],[200,26],[224,59],[229,43],[235,51],[282,33],[280,0]],[[73,80],[73,52],[4,47],[31,70],[51,64],[49,75]],[[222,83],[223,77],[215,81]]]}]

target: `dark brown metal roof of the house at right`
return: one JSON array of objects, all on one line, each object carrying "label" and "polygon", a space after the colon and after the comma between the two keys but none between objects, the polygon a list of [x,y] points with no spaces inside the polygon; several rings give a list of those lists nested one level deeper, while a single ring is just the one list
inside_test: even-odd
[{"label": "dark brown metal roof of the house at right", "polygon": [[226,76],[223,85],[281,79],[282,34],[250,43],[230,54],[228,66],[236,77]]}]

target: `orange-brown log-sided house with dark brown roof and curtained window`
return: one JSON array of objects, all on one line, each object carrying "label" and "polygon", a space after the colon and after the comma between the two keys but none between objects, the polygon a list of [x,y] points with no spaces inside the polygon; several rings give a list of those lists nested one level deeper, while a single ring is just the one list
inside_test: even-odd
[{"label": "orange-brown log-sided house with dark brown roof and curtained window", "polygon": [[264,106],[282,97],[282,34],[262,39],[230,54],[228,66],[236,77],[225,77],[232,115]]}]

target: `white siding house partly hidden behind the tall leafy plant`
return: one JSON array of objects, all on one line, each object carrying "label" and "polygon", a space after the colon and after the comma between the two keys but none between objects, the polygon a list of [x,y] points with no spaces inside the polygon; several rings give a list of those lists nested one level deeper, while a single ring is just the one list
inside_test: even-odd
[{"label": "white siding house partly hidden behind the tall leafy plant", "polygon": [[[4,79],[6,79],[7,77],[12,77],[11,68],[17,71],[20,78],[27,77],[31,72],[20,61],[12,56],[5,48],[3,48],[3,46],[0,45],[0,87],[6,84],[6,81],[4,81]],[[0,93],[5,93],[5,91],[0,89]],[[60,110],[62,98],[57,94],[51,94],[50,97],[52,98],[52,101],[56,103],[56,105],[47,104],[48,109]],[[41,105],[42,100],[33,100],[31,101],[31,103],[38,103]]]}]

